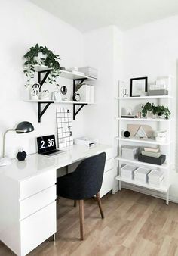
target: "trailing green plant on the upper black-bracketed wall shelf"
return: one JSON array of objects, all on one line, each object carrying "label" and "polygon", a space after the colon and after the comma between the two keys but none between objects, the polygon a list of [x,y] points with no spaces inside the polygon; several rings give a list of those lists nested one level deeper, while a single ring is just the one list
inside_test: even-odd
[{"label": "trailing green plant on the upper black-bracketed wall shelf", "polygon": [[54,51],[49,50],[46,46],[39,46],[36,44],[29,48],[29,51],[23,56],[25,58],[23,73],[27,76],[26,86],[29,85],[30,80],[34,78],[35,65],[52,68],[48,76],[49,83],[56,83],[56,78],[60,74],[60,57]]}]

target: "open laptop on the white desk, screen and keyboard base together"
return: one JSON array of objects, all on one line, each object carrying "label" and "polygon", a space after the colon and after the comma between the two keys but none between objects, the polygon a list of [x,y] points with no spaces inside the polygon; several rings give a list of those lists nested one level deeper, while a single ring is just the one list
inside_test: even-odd
[{"label": "open laptop on the white desk, screen and keyboard base together", "polygon": [[54,134],[37,137],[38,154],[48,157],[64,153],[65,151],[57,149]]}]

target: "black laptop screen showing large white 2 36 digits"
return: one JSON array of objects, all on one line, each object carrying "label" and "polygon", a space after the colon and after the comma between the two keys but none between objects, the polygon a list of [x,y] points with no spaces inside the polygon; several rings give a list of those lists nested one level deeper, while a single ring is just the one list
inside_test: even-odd
[{"label": "black laptop screen showing large white 2 36 digits", "polygon": [[57,147],[54,134],[38,137],[37,145],[39,154],[55,150]]}]

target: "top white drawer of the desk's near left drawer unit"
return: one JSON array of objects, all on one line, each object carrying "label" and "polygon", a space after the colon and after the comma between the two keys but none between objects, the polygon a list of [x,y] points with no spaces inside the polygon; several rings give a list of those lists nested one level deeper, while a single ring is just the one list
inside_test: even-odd
[{"label": "top white drawer of the desk's near left drawer unit", "polygon": [[20,183],[20,199],[28,198],[56,183],[56,170],[51,169],[44,173],[32,176]]}]

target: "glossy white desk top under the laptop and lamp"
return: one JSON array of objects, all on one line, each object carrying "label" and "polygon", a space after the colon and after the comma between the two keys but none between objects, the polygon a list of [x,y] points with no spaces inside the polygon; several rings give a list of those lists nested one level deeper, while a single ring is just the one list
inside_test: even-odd
[{"label": "glossy white desk top under the laptop and lamp", "polygon": [[10,179],[20,182],[43,173],[46,170],[65,167],[66,165],[100,154],[109,149],[112,149],[112,147],[100,144],[96,145],[94,148],[87,148],[83,145],[72,145],[72,147],[63,148],[63,151],[66,151],[66,153],[52,158],[47,158],[37,153],[28,155],[25,161],[18,161],[16,158],[12,161],[12,164],[0,167],[0,179],[1,176],[8,176]]}]

